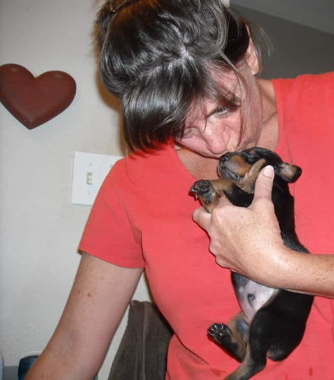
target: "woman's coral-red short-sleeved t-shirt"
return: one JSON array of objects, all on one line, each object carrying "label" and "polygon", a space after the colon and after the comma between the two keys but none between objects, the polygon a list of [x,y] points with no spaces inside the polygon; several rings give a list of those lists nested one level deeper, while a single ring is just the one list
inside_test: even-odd
[{"label": "woman's coral-red short-sleeved t-shirt", "polygon": [[[273,81],[279,114],[277,152],[303,168],[291,186],[296,230],[314,253],[334,253],[334,74]],[[166,379],[214,380],[239,363],[207,335],[239,312],[230,271],[216,264],[209,239],[192,220],[195,178],[172,144],[131,154],[106,177],[80,249],[125,267],[145,267],[154,299],[174,330]],[[334,274],[333,274],[334,275]],[[258,380],[334,378],[334,302],[316,297],[305,336],[282,362],[267,361]]]}]

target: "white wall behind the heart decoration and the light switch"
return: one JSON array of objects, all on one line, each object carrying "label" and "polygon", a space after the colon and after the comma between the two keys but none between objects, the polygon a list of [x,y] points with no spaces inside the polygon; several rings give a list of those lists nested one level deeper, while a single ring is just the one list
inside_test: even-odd
[{"label": "white wall behind the heart decoration and the light switch", "polygon": [[[0,104],[0,350],[5,365],[41,351],[50,338],[80,259],[90,211],[70,204],[75,150],[124,155],[119,119],[97,87],[92,0],[2,0],[0,65],[34,75],[62,70],[77,83],[63,113],[27,130]],[[136,299],[148,299],[141,281]],[[123,321],[99,378],[106,380]]]}]

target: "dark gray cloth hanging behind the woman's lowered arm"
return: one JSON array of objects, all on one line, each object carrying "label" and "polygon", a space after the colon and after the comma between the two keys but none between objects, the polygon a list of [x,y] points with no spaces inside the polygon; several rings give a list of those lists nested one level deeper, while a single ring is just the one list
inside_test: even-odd
[{"label": "dark gray cloth hanging behind the woman's lowered arm", "polygon": [[132,301],[108,380],[165,380],[172,334],[156,305]]}]

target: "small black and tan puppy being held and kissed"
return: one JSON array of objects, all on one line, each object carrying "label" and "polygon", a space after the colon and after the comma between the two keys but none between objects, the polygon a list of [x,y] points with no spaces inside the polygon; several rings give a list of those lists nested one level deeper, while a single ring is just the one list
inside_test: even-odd
[{"label": "small black and tan puppy being held and kissed", "polygon": [[[251,148],[223,155],[218,167],[221,178],[197,181],[191,192],[208,212],[220,196],[226,196],[236,206],[248,207],[253,200],[255,180],[265,165],[275,169],[272,201],[284,244],[306,253],[295,233],[293,197],[288,187],[288,182],[299,178],[301,169],[283,163],[271,150]],[[283,360],[297,347],[313,296],[268,288],[237,273],[232,273],[232,283],[242,311],[228,325],[211,325],[208,333],[241,362],[225,380],[247,380],[265,367],[267,357]]]}]

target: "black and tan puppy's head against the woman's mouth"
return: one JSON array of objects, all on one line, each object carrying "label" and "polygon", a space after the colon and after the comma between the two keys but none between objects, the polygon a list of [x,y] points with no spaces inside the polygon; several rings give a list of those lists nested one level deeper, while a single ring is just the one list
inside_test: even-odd
[{"label": "black and tan puppy's head against the woman's mouth", "polygon": [[255,180],[266,165],[274,167],[276,179],[285,182],[295,182],[301,174],[301,168],[284,163],[277,153],[256,147],[222,155],[218,171],[222,178],[231,179],[247,193],[254,193]]}]

